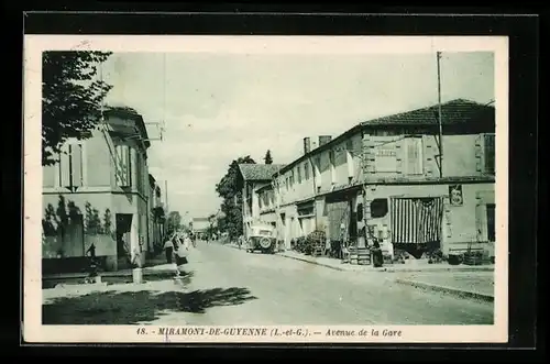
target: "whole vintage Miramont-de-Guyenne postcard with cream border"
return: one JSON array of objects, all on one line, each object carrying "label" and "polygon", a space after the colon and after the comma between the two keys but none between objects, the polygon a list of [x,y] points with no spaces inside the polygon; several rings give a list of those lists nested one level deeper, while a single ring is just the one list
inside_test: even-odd
[{"label": "whole vintage Miramont-de-Guyenne postcard with cream border", "polygon": [[24,340],[506,342],[507,110],[502,36],[25,36]]}]

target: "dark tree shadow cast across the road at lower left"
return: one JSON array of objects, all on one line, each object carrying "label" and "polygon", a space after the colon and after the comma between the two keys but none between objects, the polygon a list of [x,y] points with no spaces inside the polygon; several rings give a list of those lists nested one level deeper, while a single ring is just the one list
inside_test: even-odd
[{"label": "dark tree shadow cast across the road at lower left", "polygon": [[205,313],[215,306],[242,305],[256,299],[246,288],[205,290],[103,291],[63,297],[42,306],[43,324],[133,324],[158,319],[168,312]]}]

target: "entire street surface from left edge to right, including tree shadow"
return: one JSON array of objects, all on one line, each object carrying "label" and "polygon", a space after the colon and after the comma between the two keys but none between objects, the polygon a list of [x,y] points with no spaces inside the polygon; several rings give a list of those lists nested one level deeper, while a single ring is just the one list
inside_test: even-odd
[{"label": "entire street surface from left edge to right, including tree shadow", "polygon": [[184,287],[165,275],[143,285],[111,285],[99,294],[47,300],[44,323],[493,323],[491,302],[394,284],[385,273],[339,272],[205,242],[191,251],[186,268]]}]

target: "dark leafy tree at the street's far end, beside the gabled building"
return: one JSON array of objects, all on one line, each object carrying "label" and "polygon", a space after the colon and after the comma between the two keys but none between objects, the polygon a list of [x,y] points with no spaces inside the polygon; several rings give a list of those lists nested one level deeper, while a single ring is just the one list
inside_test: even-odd
[{"label": "dark leafy tree at the street's far end, beside the gabled building", "polygon": [[221,211],[224,217],[220,221],[220,230],[227,231],[230,239],[237,239],[243,233],[242,227],[242,188],[243,180],[240,178],[240,164],[255,164],[254,159],[246,155],[234,159],[229,165],[228,172],[216,185],[216,191],[222,198]]}]

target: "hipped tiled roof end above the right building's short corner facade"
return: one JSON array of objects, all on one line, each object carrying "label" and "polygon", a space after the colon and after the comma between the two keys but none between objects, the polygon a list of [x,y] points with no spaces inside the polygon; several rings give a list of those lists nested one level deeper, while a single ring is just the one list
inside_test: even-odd
[{"label": "hipped tiled roof end above the right building's short corner facade", "polygon": [[[417,109],[413,111],[402,112],[393,115],[382,117],[362,122],[362,125],[415,125],[415,124],[437,124],[438,123],[437,104]],[[442,124],[463,124],[481,121],[491,117],[495,108],[492,106],[477,103],[470,100],[457,99],[446,103],[441,103]],[[494,117],[493,117],[494,119]]]}]

